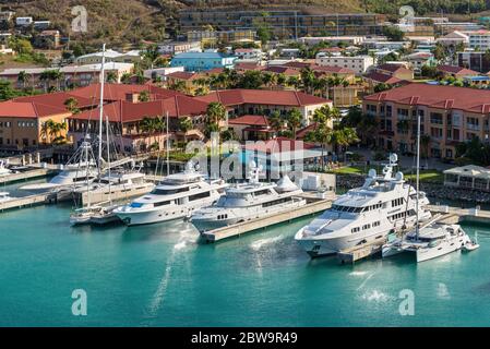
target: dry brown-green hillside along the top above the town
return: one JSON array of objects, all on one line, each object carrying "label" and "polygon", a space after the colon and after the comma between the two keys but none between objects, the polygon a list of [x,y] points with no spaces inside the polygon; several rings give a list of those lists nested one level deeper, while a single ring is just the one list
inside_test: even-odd
[{"label": "dry brown-green hillside along the top above the town", "polygon": [[[70,33],[71,9],[83,4],[88,12],[88,32]],[[468,0],[0,0],[2,9],[16,15],[32,15],[49,20],[69,36],[74,45],[82,44],[89,51],[103,41],[112,47],[138,47],[145,41],[158,41],[178,34],[179,9],[274,10],[296,8],[311,14],[332,12],[377,12],[394,19],[403,4],[413,5],[417,14],[457,13],[468,10]],[[490,10],[490,1],[469,0],[471,13]]]}]

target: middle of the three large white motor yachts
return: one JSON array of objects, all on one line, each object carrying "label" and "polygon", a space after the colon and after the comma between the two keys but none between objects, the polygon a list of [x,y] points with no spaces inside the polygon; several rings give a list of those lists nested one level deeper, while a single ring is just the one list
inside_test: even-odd
[{"label": "middle of the three large white motor yachts", "polygon": [[250,180],[226,189],[225,195],[210,207],[201,208],[191,217],[199,231],[207,231],[251,219],[294,210],[307,204],[303,193],[288,176],[278,183],[259,182],[260,168],[252,166]]}]

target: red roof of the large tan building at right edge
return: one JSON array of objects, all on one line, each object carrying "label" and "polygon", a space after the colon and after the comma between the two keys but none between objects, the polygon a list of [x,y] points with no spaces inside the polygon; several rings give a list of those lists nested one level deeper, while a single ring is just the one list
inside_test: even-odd
[{"label": "red roof of the large tan building at right edge", "polygon": [[467,87],[409,84],[367,96],[364,100],[490,113],[490,91]]}]

